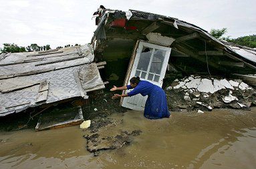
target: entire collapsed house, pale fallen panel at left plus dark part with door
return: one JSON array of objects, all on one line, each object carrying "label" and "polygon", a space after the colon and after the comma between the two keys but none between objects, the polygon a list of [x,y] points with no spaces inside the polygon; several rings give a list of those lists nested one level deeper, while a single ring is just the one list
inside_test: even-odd
[{"label": "entire collapsed house, pale fallen panel at left plus dark part with door", "polygon": [[[96,21],[91,45],[1,54],[0,116],[70,98],[88,99],[86,92],[104,88],[107,81],[127,85],[138,76],[162,86],[166,69],[256,85],[256,50],[219,41],[196,25],[136,10],[102,9]],[[120,104],[143,110],[145,102],[138,94]]]}]

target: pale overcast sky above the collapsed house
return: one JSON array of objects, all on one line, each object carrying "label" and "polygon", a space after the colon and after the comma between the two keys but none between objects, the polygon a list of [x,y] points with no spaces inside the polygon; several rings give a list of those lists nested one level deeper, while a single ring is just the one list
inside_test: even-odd
[{"label": "pale overcast sky above the collapsed house", "polygon": [[0,0],[0,47],[90,43],[100,5],[176,17],[207,31],[227,27],[231,38],[256,34],[255,0]]}]

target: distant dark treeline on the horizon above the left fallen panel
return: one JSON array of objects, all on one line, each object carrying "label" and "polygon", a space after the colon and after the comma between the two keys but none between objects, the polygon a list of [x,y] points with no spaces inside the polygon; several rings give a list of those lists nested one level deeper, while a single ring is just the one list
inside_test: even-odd
[{"label": "distant dark treeline on the horizon above the left fallen panel", "polygon": [[[64,47],[73,47],[76,45],[65,45]],[[56,49],[61,49],[63,47],[57,47]],[[21,53],[21,52],[32,52],[32,51],[46,51],[51,49],[50,45],[38,46],[36,43],[32,43],[27,47],[19,47],[14,43],[4,43],[3,49],[0,48],[0,53]]]}]

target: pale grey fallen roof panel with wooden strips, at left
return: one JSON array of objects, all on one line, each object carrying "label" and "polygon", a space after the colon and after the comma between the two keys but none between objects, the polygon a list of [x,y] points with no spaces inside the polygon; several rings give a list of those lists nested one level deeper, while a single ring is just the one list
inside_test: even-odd
[{"label": "pale grey fallen roof panel with wooden strips, at left", "polygon": [[[0,116],[104,88],[91,45],[0,57]],[[102,65],[101,65],[102,66]]]}]

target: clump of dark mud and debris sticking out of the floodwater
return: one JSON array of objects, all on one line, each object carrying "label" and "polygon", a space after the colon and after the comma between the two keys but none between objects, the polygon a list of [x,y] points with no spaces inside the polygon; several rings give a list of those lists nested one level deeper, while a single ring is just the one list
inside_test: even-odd
[{"label": "clump of dark mud and debris sticking out of the floodwater", "polygon": [[87,140],[86,149],[98,156],[100,150],[114,150],[130,144],[134,136],[140,135],[140,130],[124,130],[122,119],[97,118],[88,128],[88,134],[84,135]]}]

